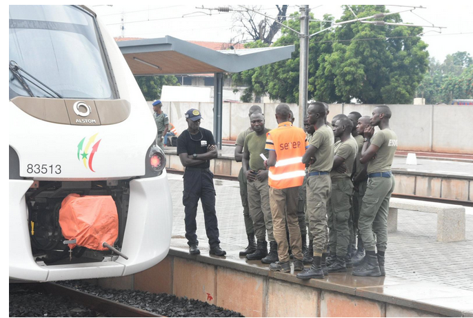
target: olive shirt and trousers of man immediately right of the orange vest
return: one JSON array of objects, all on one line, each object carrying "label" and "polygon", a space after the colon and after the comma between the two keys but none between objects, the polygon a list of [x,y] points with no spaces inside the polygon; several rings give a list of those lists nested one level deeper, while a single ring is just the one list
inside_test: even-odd
[{"label": "olive shirt and trousers of man immediately right of the orange vest", "polygon": [[334,162],[334,133],[324,125],[310,138],[310,145],[317,148],[315,162],[309,166],[307,181],[307,213],[312,233],[314,256],[321,256],[327,250],[327,203],[332,190],[328,172]]}]

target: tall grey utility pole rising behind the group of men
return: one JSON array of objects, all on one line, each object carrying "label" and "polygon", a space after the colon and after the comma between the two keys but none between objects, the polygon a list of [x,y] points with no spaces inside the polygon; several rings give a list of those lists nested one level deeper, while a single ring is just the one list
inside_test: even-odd
[{"label": "tall grey utility pole rising behind the group of men", "polygon": [[[309,79],[309,6],[301,6],[301,33],[299,34],[299,123],[303,122],[307,112]],[[302,111],[302,114],[301,114]]]}]

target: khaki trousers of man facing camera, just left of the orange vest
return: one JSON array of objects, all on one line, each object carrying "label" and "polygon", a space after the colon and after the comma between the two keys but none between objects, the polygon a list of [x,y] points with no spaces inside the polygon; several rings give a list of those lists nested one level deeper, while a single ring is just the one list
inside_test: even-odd
[{"label": "khaki trousers of man facing camera, just left of the orange vest", "polygon": [[265,241],[266,232],[268,232],[268,240],[274,241],[268,179],[248,181],[247,186],[248,207],[253,221],[254,235],[258,241]]}]

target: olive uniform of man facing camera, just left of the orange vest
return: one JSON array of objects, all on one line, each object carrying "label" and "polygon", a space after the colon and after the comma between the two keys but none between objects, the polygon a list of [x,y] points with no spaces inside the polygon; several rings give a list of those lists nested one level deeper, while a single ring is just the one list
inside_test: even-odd
[{"label": "olive uniform of man facing camera, just left of the orange vest", "polygon": [[[253,171],[266,170],[264,161],[260,154],[269,157],[269,150],[266,147],[266,133],[270,129],[265,129],[261,136],[256,132],[251,132],[245,138],[243,152],[250,152],[250,169]],[[247,181],[248,189],[248,207],[250,208],[250,217],[253,221],[254,235],[258,241],[265,241],[266,232],[268,232],[268,240],[274,241],[272,234],[272,215],[270,208],[270,187],[268,186],[268,178],[263,181],[258,179]]]}]

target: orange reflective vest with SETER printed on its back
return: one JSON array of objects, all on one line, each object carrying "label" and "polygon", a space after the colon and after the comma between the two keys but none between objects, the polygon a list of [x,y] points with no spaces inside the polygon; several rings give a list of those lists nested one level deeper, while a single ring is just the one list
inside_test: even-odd
[{"label": "orange reflective vest with SETER printed on its back", "polygon": [[308,146],[305,132],[292,126],[290,121],[279,123],[278,128],[266,134],[266,149],[276,152],[276,165],[270,167],[268,172],[270,187],[285,189],[302,186],[305,175],[302,156]]}]

